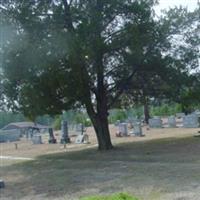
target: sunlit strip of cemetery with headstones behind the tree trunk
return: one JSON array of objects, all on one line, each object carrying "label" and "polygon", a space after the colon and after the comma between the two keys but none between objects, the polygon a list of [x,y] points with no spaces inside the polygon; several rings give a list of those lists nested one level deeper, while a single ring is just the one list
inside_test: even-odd
[{"label": "sunlit strip of cemetery with headstones behind the tree trunk", "polygon": [[[109,127],[113,143],[119,144],[123,142],[148,141],[171,137],[192,137],[197,133],[199,127],[197,124],[185,127],[187,121],[185,122],[184,120],[187,119],[180,119],[174,116],[164,118],[154,117],[152,119],[155,120],[153,127],[151,124],[145,125],[139,122],[139,120],[128,120],[123,123],[118,122],[117,124],[111,124]],[[150,119],[151,123],[152,119]],[[23,124],[24,128],[24,124],[26,123],[18,124]],[[72,126],[68,124],[67,121],[62,121],[61,130],[58,131],[44,125],[28,125],[31,131],[24,131],[24,129],[22,129],[22,131],[21,129],[16,129],[16,127],[14,129],[8,129],[10,126],[5,126],[0,131],[1,153],[3,155],[34,158],[35,156],[43,154],[63,152],[65,148],[71,151],[97,145],[94,129],[92,127],[86,128],[83,124]],[[26,124],[26,127],[28,127],[28,125]],[[22,126],[19,127],[22,128]],[[41,131],[32,131],[32,129],[36,127],[40,127]],[[6,137],[2,133],[4,133]],[[9,140],[9,137],[13,140]],[[6,138],[6,140],[3,140],[3,138]],[[15,144],[17,144],[19,151],[15,151]],[[4,164],[6,164],[6,161]]]}]

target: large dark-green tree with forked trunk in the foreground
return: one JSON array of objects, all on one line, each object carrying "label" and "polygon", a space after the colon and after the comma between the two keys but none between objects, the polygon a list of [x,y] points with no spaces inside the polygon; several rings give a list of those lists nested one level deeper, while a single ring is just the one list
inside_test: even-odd
[{"label": "large dark-green tree with forked trunk in the foreground", "polygon": [[4,48],[7,102],[32,118],[84,106],[99,149],[111,149],[108,110],[135,76],[185,69],[176,67],[169,54],[174,49],[170,36],[186,26],[187,13],[159,20],[155,3],[6,1],[1,9],[16,27]]}]

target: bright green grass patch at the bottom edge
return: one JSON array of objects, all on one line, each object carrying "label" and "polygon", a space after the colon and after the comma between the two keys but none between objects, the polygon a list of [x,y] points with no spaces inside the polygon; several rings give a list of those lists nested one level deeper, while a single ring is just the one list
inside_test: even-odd
[{"label": "bright green grass patch at the bottom edge", "polygon": [[138,199],[126,193],[119,193],[112,196],[84,197],[81,198],[80,200],[138,200]]}]

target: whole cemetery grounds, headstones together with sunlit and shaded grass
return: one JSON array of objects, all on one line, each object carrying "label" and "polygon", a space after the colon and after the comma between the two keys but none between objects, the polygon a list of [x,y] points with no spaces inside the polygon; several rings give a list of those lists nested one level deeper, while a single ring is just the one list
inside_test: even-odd
[{"label": "whole cemetery grounds, headstones together with sunlit and shaded grass", "polygon": [[[129,115],[109,124],[115,149],[108,154],[96,151],[98,140],[92,126],[66,119],[60,121],[60,130],[33,122],[10,123],[0,131],[1,198],[39,199],[42,195],[44,200],[49,196],[60,199],[53,191],[72,200],[90,200],[97,193],[102,198],[116,194],[110,195],[111,200],[120,195],[134,200],[145,196],[171,200],[183,194],[196,198],[200,187],[196,178],[190,177],[190,168],[195,173],[199,169],[199,119],[198,112],[177,113],[152,116],[146,124],[143,117]],[[181,178],[170,178],[179,174]],[[56,185],[50,184],[52,180]],[[173,189],[167,189],[168,185]],[[182,191],[182,186],[190,193]],[[118,195],[121,191],[126,193]],[[81,198],[84,196],[88,198]]]}]

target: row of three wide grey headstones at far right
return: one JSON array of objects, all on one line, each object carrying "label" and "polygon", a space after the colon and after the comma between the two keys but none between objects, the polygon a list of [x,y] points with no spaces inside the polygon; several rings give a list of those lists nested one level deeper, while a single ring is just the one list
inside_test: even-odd
[{"label": "row of three wide grey headstones at far right", "polygon": [[[200,116],[196,113],[190,115],[179,115],[178,118],[183,119],[183,127],[184,128],[198,128],[200,127]],[[149,127],[151,128],[162,128],[162,120],[160,117],[154,117],[149,119]],[[177,127],[176,117],[170,116],[168,117],[168,127],[175,128]]]}]

